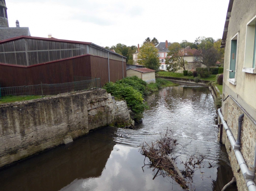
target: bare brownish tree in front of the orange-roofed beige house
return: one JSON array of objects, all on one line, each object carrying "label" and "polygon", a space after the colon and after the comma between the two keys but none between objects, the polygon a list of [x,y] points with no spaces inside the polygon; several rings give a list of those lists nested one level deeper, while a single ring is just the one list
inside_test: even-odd
[{"label": "bare brownish tree in front of the orange-roofed beige house", "polygon": [[194,54],[193,61],[205,65],[208,73],[210,73],[210,67],[215,66],[218,58],[218,51],[214,47],[211,47],[210,49],[203,48],[197,50]]}]

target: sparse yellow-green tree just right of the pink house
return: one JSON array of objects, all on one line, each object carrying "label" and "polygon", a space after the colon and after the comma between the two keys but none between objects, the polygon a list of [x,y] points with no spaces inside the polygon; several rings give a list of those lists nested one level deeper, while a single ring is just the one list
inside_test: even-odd
[{"label": "sparse yellow-green tree just right of the pink house", "polygon": [[167,64],[167,68],[169,67],[169,71],[177,71],[180,68],[185,68],[185,64],[188,62],[184,60],[183,52],[181,52],[181,45],[180,43],[171,43],[168,47],[168,58],[165,60],[165,64]]}]

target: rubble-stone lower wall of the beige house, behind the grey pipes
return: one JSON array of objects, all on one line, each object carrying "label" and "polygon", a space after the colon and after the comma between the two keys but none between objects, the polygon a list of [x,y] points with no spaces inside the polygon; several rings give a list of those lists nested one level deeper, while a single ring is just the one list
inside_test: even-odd
[{"label": "rubble-stone lower wall of the beige house, behind the grey pipes", "polygon": [[[242,113],[243,111],[237,106],[237,104],[231,98],[228,98],[225,102],[222,102],[222,114],[224,120],[226,120],[235,140],[237,139],[238,117]],[[247,166],[253,164],[255,141],[256,127],[248,118],[248,116],[244,115],[241,133],[241,153],[244,157]],[[248,188],[245,184],[245,180],[243,178],[239,164],[236,160],[234,150],[231,148],[231,144],[224,130],[224,127],[222,143],[225,144],[229,156],[229,161],[233,170],[233,174],[236,177],[238,191],[247,191]],[[254,179],[254,181],[256,181],[256,178]]]}]

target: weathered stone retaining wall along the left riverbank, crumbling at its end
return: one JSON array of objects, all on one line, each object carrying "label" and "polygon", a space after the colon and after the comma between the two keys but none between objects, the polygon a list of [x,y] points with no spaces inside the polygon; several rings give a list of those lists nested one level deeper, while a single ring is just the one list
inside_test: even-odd
[{"label": "weathered stone retaining wall along the left riverbank, crumbling at its end", "polygon": [[117,120],[134,125],[126,102],[104,89],[4,104],[0,113],[0,167]]}]

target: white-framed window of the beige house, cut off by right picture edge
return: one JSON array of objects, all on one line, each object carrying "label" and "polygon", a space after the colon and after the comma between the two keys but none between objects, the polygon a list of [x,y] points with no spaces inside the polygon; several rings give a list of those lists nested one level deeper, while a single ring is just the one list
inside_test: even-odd
[{"label": "white-framed window of the beige house, cut off by right picture edge", "polygon": [[255,66],[253,68],[254,43],[255,43],[255,25],[256,15],[247,23],[245,35],[245,50],[244,50],[244,67],[243,72],[256,74]]}]

